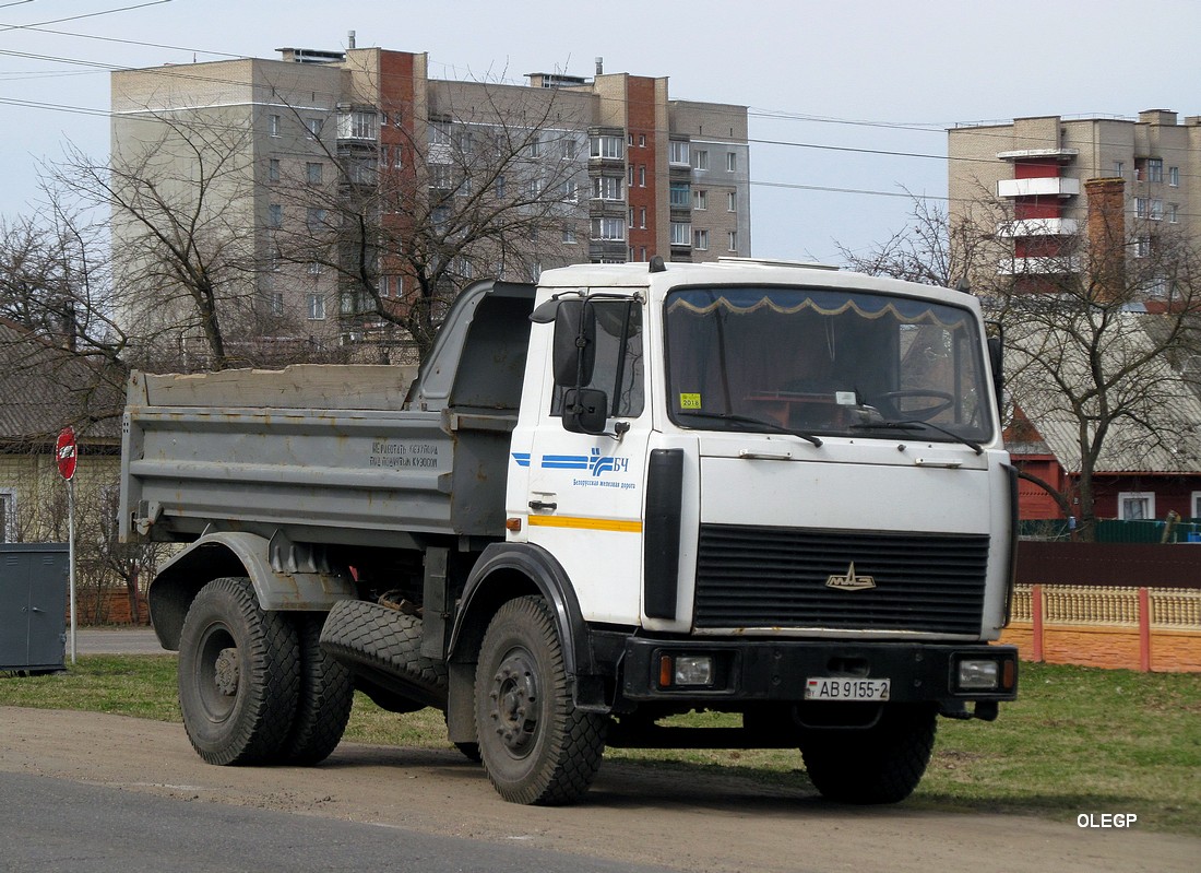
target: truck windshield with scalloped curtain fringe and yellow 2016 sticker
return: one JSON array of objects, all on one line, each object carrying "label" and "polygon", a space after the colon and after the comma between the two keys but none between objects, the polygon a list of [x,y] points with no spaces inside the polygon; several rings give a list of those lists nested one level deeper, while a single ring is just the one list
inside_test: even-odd
[{"label": "truck windshield with scalloped curtain fringe and yellow 2016 sticker", "polygon": [[993,432],[967,309],[866,291],[686,289],[668,296],[667,345],[682,427],[943,441]]}]

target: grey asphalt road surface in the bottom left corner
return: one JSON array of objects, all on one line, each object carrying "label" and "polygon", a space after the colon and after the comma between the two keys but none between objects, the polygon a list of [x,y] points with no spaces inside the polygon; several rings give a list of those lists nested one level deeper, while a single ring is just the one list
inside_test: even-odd
[{"label": "grey asphalt road surface in the bottom left corner", "polygon": [[0,871],[664,873],[521,845],[0,772]]}]

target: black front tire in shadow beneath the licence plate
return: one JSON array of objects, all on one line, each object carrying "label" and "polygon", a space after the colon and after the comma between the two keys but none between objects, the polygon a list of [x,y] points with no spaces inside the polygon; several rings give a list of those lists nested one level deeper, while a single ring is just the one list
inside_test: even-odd
[{"label": "black front tire in shadow beneath the licence plate", "polygon": [[918,788],[938,729],[932,706],[888,703],[867,730],[808,730],[801,754],[823,797],[867,806],[897,803]]}]

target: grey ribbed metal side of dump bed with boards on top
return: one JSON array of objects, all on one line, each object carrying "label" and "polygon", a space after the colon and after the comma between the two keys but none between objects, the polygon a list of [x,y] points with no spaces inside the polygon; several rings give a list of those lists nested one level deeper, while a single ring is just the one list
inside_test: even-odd
[{"label": "grey ribbed metal side of dump bed with boards on top", "polygon": [[[293,541],[381,546],[401,533],[503,535],[515,416],[404,410],[414,376],[355,364],[135,373],[123,534],[282,530]],[[455,488],[465,477],[471,487]]]}]

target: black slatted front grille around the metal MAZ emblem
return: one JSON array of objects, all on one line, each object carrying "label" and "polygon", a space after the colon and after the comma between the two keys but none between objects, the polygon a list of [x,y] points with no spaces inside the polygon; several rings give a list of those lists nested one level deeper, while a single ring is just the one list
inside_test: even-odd
[{"label": "black slatted front grille around the metal MAZ emblem", "polygon": [[986,535],[703,524],[693,623],[974,636],[987,564]]}]

